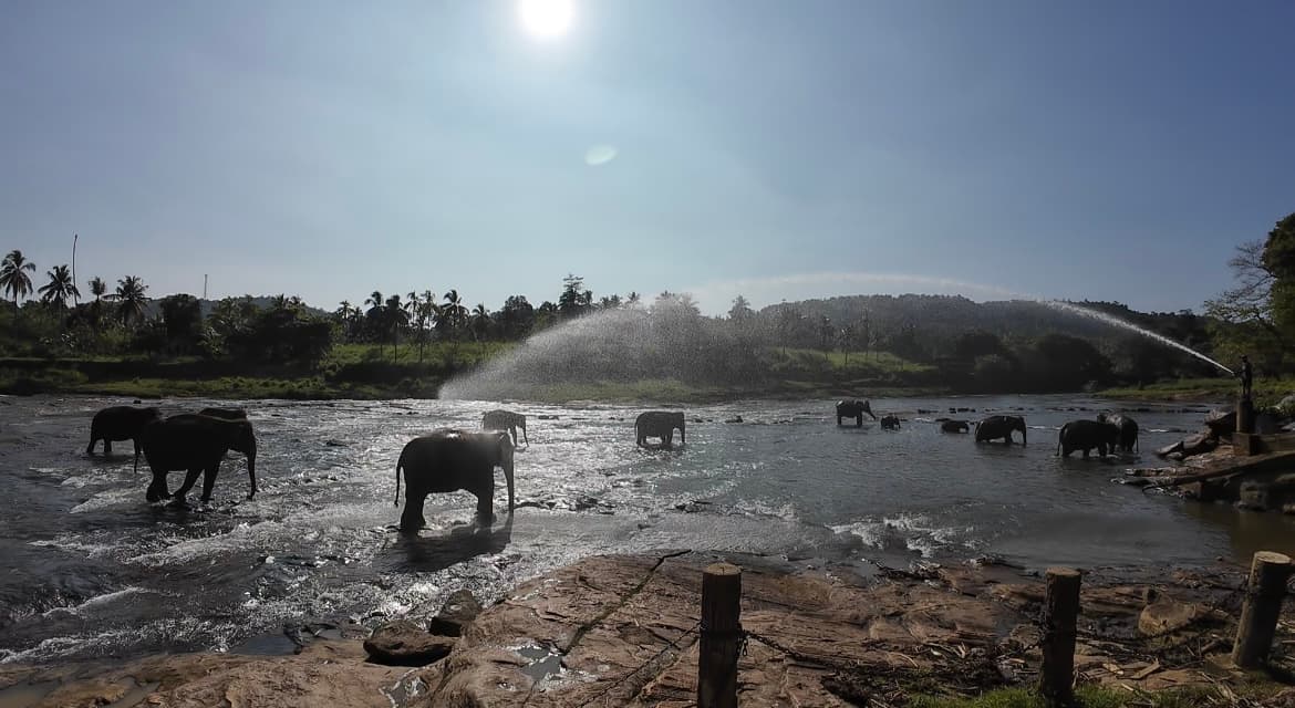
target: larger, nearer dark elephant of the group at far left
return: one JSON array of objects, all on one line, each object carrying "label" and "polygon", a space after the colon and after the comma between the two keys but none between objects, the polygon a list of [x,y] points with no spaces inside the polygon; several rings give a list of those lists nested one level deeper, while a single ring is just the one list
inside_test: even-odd
[{"label": "larger, nearer dark elephant of the group at far left", "polygon": [[[225,452],[237,450],[247,456],[247,498],[256,496],[256,434],[247,421],[227,421],[214,415],[183,413],[153,421],[140,434],[140,447],[135,450],[135,467],[140,466],[140,452],[153,470],[153,481],[145,497],[161,501],[172,497],[176,506],[184,505],[184,496],[202,472],[202,501],[211,501],[211,489]],[[184,484],[172,496],[167,492],[166,475],[185,470]]]}]

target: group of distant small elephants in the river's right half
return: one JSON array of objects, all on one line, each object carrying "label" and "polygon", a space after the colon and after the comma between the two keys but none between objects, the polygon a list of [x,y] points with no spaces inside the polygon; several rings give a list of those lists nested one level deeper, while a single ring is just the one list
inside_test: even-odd
[{"label": "group of distant small elephants in the river's right half", "polygon": [[[864,413],[878,419],[873,413],[872,404],[865,400],[843,400],[837,403],[837,425],[842,425],[843,418],[855,418],[855,426],[864,425]],[[883,415],[879,418],[882,430],[899,430],[896,415]],[[1020,432],[1020,444],[1026,444],[1026,419],[1022,415],[989,415],[980,422],[939,419],[940,432],[970,432],[975,428],[975,441],[988,443],[1002,440],[1011,444],[1013,432]],[[1061,457],[1070,457],[1072,452],[1081,452],[1088,457],[1092,450],[1102,457],[1115,453],[1131,453],[1137,447],[1137,422],[1128,415],[1098,414],[1094,421],[1071,421],[1061,427],[1057,435],[1057,453]]]}]

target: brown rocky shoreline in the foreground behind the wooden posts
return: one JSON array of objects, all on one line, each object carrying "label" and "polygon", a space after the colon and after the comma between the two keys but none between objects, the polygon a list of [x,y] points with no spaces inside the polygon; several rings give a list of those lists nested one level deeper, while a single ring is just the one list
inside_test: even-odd
[{"label": "brown rocky shoreline in the foreground behind the wooden posts", "polygon": [[[431,623],[439,634],[399,620],[368,641],[354,633],[315,639],[291,656],[3,665],[0,707],[690,705],[701,575],[716,559],[692,551],[592,557],[519,585],[475,619],[462,606],[470,598],[456,595]],[[904,705],[916,695],[975,695],[1036,680],[1042,582],[1035,571],[969,562],[878,567],[865,577],[831,566],[726,559],[743,568],[743,707]],[[1295,690],[1229,668],[1244,576],[1234,566],[1085,572],[1079,681],[1131,698],[1200,686],[1254,694],[1259,681],[1263,704],[1295,705]],[[376,663],[377,645],[392,639],[398,648],[436,648],[413,661],[426,665]],[[1290,607],[1274,645],[1279,676],[1295,669],[1287,643],[1295,643]]]}]

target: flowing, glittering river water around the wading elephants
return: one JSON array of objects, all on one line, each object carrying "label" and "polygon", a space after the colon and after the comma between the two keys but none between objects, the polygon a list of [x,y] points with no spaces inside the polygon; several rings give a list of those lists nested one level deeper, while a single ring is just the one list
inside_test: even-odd
[{"label": "flowing, glittering river water around the wading elephants", "polygon": [[[698,549],[864,570],[982,554],[1090,567],[1295,551],[1285,516],[1111,484],[1159,465],[1150,450],[1195,431],[1200,405],[1138,405],[1142,453],[1102,461],[1055,457],[1062,423],[1111,406],[1075,396],[873,400],[905,418],[899,431],[837,427],[824,400],[690,406],[688,444],[673,452],[635,447],[642,408],[509,404],[528,415],[531,440],[517,454],[512,520],[500,474],[492,528],[470,523],[469,494],[439,494],[429,528],[405,538],[392,527],[400,448],[436,427],[477,428],[499,404],[242,401],[260,492],[245,500],[246,466],[232,456],[210,507],[179,510],[145,502],[149,472],[132,470],[130,441],[110,458],[84,454],[95,410],[123,403],[0,397],[0,663],[272,651],[285,626],[373,621],[460,588],[493,599],[601,553]],[[956,415],[970,419],[1022,414],[1030,445],[976,444],[918,413],[949,406],[975,409]]]}]

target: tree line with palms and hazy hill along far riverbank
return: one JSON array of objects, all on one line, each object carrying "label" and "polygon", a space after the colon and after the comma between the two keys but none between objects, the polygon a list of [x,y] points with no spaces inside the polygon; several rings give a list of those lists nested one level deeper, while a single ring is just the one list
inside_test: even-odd
[{"label": "tree line with palms and hazy hill along far riverbank", "polygon": [[[1208,300],[1204,315],[1076,304],[1207,356],[1234,360],[1248,351],[1265,373],[1281,375],[1295,364],[1285,353],[1285,343],[1295,337],[1295,215],[1279,221],[1267,241],[1239,246],[1230,265],[1238,286]],[[32,283],[35,271],[17,250],[0,263],[0,291],[9,299],[0,311],[3,355],[313,364],[339,344],[368,344],[382,360],[412,365],[422,364],[433,344],[519,342],[602,312],[618,315],[597,320],[601,327],[572,327],[562,353],[569,364],[535,362],[535,375],[751,382],[808,371],[865,384],[1009,392],[1217,374],[1132,331],[1015,300],[856,295],[755,309],[738,295],[724,316],[707,317],[688,294],[596,296],[583,277],[567,274],[557,296],[539,305],[521,294],[490,309],[469,307],[457,289],[374,290],[359,304],[343,300],[326,312],[287,295],[208,303],[177,294],[153,300],[137,276],[120,278],[113,293],[102,278],[91,278],[93,299],[78,302],[80,291],[66,265],[48,271],[39,287]]]}]

